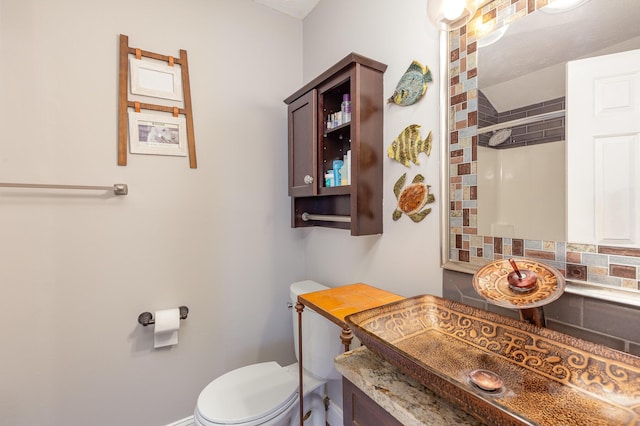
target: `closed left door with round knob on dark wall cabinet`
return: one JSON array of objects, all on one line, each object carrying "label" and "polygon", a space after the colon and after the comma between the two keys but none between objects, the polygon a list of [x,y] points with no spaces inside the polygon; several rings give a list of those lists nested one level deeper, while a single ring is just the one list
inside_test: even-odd
[{"label": "closed left door with round knob on dark wall cabinet", "polygon": [[289,195],[317,195],[317,91],[289,104]]}]

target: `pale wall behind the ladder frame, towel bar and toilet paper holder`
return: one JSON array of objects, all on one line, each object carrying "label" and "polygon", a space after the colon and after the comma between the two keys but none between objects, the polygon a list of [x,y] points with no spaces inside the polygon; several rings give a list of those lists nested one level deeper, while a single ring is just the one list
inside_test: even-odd
[{"label": "pale wall behind the ladder frame, towel bar and toilet paper holder", "polygon": [[[129,195],[0,189],[0,424],[165,425],[213,377],[293,361],[286,108],[302,22],[251,0],[3,0],[0,181],[129,185]],[[116,165],[118,35],[189,55],[198,168]],[[187,305],[152,349],[143,311]]]}]

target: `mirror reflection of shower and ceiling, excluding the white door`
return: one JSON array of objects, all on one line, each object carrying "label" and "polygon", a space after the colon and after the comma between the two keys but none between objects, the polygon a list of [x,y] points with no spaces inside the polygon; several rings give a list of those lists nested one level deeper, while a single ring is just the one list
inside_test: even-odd
[{"label": "mirror reflection of shower and ceiling, excluding the white door", "polygon": [[478,39],[480,235],[567,240],[566,65],[640,48],[636,1],[543,8]]}]

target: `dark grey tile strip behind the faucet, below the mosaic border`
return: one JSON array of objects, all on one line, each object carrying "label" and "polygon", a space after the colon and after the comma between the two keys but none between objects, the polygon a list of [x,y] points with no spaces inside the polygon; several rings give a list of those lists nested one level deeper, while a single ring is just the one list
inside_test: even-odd
[{"label": "dark grey tile strip behind the faucet, below the mosaic border", "polygon": [[[515,309],[488,303],[476,293],[472,276],[445,270],[443,296],[512,318],[519,318]],[[640,356],[640,312],[618,303],[590,299],[564,293],[558,300],[544,306],[546,325],[552,330]]]}]

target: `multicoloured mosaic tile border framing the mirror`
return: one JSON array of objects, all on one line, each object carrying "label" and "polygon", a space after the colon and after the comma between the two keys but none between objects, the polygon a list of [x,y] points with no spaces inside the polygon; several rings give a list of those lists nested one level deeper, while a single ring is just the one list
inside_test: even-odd
[{"label": "multicoloured mosaic tile border framing the mirror", "polygon": [[476,40],[490,31],[487,28],[499,28],[551,1],[495,0],[450,33],[450,259],[482,265],[504,257],[527,257],[554,266],[571,280],[640,290],[640,249],[478,235]]}]

